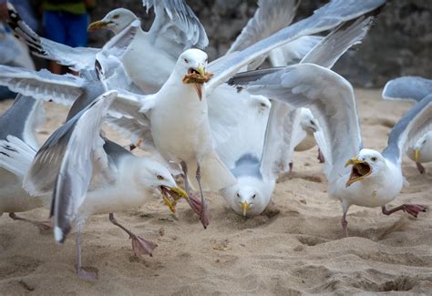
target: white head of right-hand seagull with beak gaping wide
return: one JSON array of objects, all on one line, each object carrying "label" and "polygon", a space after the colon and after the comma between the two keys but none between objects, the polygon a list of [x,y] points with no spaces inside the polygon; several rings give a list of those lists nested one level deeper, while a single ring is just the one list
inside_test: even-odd
[{"label": "white head of right-hand seagull with beak gaping wide", "polygon": [[361,149],[355,158],[346,161],[345,167],[353,166],[346,181],[346,187],[351,184],[376,176],[386,168],[386,158],[376,150]]}]

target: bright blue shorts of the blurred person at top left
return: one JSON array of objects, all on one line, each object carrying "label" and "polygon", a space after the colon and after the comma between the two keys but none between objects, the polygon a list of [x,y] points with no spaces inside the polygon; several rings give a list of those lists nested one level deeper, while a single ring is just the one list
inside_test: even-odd
[{"label": "bright blue shorts of the blurred person at top left", "polygon": [[44,11],[44,36],[67,46],[87,46],[87,25],[87,14]]}]

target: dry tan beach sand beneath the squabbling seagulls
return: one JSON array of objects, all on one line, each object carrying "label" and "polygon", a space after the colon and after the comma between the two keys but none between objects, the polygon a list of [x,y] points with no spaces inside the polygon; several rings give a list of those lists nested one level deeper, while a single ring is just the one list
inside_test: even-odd
[{"label": "dry tan beach sand beneath the squabbling seagulls", "polygon": [[[410,106],[389,103],[380,91],[357,90],[365,146],[384,148],[390,127]],[[1,103],[5,109],[9,103]],[[66,109],[46,104],[41,138],[63,120]],[[127,143],[127,141],[123,141]],[[85,266],[98,281],[75,273],[75,234],[58,246],[51,233],[0,218],[0,294],[297,295],[403,291],[432,293],[432,216],[352,207],[351,237],[342,239],[341,207],[328,199],[316,148],[296,153],[294,172],[283,176],[261,216],[243,219],[218,194],[207,194],[211,225],[203,230],[182,202],[177,218],[151,199],[140,209],[118,213],[125,225],[158,243],[154,257],[135,258],[126,234],[94,216],[83,235]],[[432,165],[421,176],[406,158],[410,186],[391,203],[432,205]],[[23,216],[46,219],[46,209]]]}]

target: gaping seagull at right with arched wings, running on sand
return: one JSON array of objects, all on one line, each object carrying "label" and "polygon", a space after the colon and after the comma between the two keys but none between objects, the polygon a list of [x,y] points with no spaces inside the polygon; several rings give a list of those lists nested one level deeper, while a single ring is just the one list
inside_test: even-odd
[{"label": "gaping seagull at right with arched wings, running on sand", "polygon": [[[309,107],[323,128],[326,149],[324,173],[330,197],[342,204],[341,220],[348,236],[346,213],[350,206],[375,208],[390,215],[398,210],[417,217],[426,208],[403,204],[387,209],[404,186],[401,158],[406,145],[432,124],[432,96],[412,107],[392,129],[380,153],[363,148],[353,87],[333,71],[313,64],[252,71],[230,81],[252,95],[271,97],[293,107]],[[348,168],[351,167],[351,168]]]}]

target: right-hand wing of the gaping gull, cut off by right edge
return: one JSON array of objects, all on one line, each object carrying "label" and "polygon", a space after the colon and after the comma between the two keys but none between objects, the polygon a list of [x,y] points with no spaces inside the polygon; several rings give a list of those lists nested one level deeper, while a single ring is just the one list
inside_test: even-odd
[{"label": "right-hand wing of the gaping gull, cut off by right edge", "polygon": [[432,129],[432,94],[424,97],[411,107],[397,121],[388,137],[383,156],[399,164],[406,148],[412,146],[418,138]]}]

